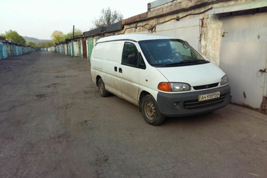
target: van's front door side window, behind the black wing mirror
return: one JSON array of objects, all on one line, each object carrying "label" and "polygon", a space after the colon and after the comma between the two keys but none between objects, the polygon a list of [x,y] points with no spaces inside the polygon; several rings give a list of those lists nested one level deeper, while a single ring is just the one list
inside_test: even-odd
[{"label": "van's front door side window, behind the black wing mirror", "polygon": [[122,51],[122,64],[137,66],[138,50],[133,43],[125,42]]}]

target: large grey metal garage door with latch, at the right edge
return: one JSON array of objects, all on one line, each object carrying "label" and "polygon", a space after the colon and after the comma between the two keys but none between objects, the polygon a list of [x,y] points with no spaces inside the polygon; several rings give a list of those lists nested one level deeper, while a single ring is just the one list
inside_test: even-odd
[{"label": "large grey metal garage door with latch, at the right edge", "polygon": [[[224,17],[220,68],[232,102],[266,112],[267,13]],[[266,71],[267,72],[267,71]]]}]

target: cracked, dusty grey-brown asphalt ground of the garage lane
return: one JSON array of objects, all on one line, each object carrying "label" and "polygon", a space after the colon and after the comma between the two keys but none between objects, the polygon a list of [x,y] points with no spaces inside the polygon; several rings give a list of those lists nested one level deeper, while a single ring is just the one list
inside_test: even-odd
[{"label": "cracked, dusty grey-brown asphalt ground of the garage lane", "polygon": [[267,115],[229,104],[145,122],[102,98],[89,61],[34,52],[0,61],[0,177],[267,177]]}]

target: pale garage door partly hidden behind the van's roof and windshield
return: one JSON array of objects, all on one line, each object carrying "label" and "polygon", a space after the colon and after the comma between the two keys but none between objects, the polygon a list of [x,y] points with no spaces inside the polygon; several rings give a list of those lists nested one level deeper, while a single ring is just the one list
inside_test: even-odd
[{"label": "pale garage door partly hidden behind the van's roof and windshield", "polygon": [[156,32],[157,34],[171,35],[186,40],[193,48],[199,51],[199,18],[157,25]]}]

